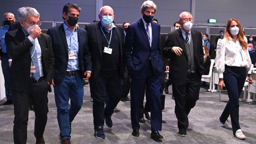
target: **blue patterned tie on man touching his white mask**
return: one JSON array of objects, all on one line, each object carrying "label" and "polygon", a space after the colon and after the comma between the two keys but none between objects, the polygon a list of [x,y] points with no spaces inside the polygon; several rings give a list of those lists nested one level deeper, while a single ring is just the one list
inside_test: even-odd
[{"label": "blue patterned tie on man touching his white mask", "polygon": [[[34,53],[35,51],[35,53]],[[34,53],[34,55],[33,55]],[[36,54],[36,49],[35,49],[35,42],[34,45],[32,47],[30,47],[30,54],[31,54],[31,61],[32,61],[32,66],[36,67],[36,72],[32,73],[33,78],[38,81],[38,79],[40,78],[40,72],[39,72],[39,65],[38,65],[38,58],[37,58],[37,54]]]}]

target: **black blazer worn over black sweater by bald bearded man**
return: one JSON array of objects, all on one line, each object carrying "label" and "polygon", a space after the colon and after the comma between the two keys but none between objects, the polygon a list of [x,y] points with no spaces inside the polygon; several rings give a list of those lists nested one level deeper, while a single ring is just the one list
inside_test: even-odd
[{"label": "black blazer worn over black sweater by bald bearded man", "polygon": [[[94,22],[87,24],[85,30],[88,33],[88,45],[89,50],[92,54],[92,78],[97,77],[101,67],[102,61],[102,45],[101,45],[101,29],[100,29],[100,22]],[[119,68],[120,68],[120,77],[123,78],[124,76],[124,60],[123,60],[123,46],[124,46],[124,29],[121,26],[115,25],[116,30],[119,38],[119,49],[120,49],[120,61],[119,61]]]}]

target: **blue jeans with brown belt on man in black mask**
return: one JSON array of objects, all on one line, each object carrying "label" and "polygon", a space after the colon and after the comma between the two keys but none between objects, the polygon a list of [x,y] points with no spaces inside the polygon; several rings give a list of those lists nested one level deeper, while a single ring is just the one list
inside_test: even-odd
[{"label": "blue jeans with brown belt on man in black mask", "polygon": [[[62,83],[53,87],[60,137],[61,139],[71,138],[69,135],[70,124],[83,104],[83,79],[78,74],[66,74]],[[68,108],[69,98],[71,100],[70,108]]]}]

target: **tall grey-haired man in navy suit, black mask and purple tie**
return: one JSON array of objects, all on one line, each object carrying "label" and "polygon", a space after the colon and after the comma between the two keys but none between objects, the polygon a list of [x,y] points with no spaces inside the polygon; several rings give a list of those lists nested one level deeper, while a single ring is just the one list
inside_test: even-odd
[{"label": "tall grey-haired man in navy suit, black mask and purple tie", "polygon": [[145,84],[151,99],[151,138],[163,138],[160,78],[163,62],[160,58],[160,25],[152,22],[156,5],[145,1],[141,6],[142,18],[128,26],[124,55],[131,74],[131,123],[132,135],[139,136],[139,110]]}]

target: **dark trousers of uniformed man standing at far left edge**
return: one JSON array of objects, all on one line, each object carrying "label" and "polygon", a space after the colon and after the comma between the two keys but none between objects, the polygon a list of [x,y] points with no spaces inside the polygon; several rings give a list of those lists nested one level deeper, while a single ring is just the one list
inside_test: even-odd
[{"label": "dark trousers of uniformed man standing at far left edge", "polygon": [[12,95],[10,90],[7,88],[8,76],[10,72],[8,58],[6,56],[1,56],[1,67],[4,75],[4,87],[5,87],[5,95],[7,100],[12,100]]}]

